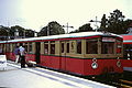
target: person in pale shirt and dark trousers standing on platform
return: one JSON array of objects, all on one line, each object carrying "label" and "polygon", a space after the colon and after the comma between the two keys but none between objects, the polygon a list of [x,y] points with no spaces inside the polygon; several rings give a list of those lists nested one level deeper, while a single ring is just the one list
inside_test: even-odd
[{"label": "person in pale shirt and dark trousers standing on platform", "polygon": [[20,50],[20,58],[21,58],[21,68],[25,68],[25,48],[23,45],[21,45],[19,50]]}]

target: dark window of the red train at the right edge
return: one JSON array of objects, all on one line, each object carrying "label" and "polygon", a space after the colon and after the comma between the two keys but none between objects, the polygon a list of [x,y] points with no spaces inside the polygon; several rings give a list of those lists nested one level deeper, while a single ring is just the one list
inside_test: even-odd
[{"label": "dark window of the red train at the right edge", "polygon": [[132,44],[124,44],[124,58],[132,59]]}]

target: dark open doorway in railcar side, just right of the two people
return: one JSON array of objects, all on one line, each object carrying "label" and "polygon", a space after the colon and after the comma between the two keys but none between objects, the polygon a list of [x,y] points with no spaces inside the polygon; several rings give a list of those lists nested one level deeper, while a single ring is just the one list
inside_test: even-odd
[{"label": "dark open doorway in railcar side, just right of the two people", "polygon": [[35,62],[36,64],[40,64],[40,52],[41,52],[41,43],[35,43]]}]

